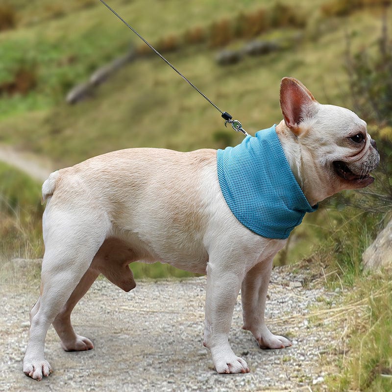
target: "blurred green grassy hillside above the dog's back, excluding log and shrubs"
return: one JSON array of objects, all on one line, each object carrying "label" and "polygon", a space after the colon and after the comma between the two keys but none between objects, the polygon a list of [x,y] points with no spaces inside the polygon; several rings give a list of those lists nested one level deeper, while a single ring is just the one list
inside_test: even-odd
[{"label": "blurred green grassy hillside above the dog's back, excluding log and shrubs", "polygon": [[[201,98],[157,56],[136,60],[99,86],[94,97],[76,105],[64,102],[66,92],[88,79],[98,67],[140,46],[138,38],[98,0],[15,2],[19,25],[0,33],[0,86],[18,72],[33,79],[25,94],[0,98],[0,141],[49,156],[70,165],[89,156],[124,147],[169,147],[190,150],[237,143],[240,135],[226,132],[220,113]],[[293,38],[285,49],[245,57],[232,66],[215,61],[218,48],[208,43],[182,46],[166,53],[222,109],[255,131],[277,123],[279,82],[301,79],[320,102],[350,105],[344,72],[345,36],[352,47],[374,44],[380,12],[353,12],[344,22],[324,16],[323,1],[289,1],[304,18],[303,28],[274,29],[259,40]],[[27,5],[26,5],[27,4]],[[82,6],[84,4],[84,6]],[[214,21],[269,9],[268,1],[120,1],[111,2],[151,43],[181,37],[187,30],[206,31]],[[186,17],[184,17],[184,15]],[[283,18],[284,15],[278,15]],[[276,22],[275,22],[276,23]],[[231,40],[241,47],[249,40]],[[1,89],[1,87],[0,87]]]}]

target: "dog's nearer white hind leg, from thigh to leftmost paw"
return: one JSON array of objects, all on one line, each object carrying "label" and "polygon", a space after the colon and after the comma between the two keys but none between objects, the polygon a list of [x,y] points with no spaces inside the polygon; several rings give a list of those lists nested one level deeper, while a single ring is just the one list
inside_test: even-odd
[{"label": "dog's nearer white hind leg, from thigh to leftmost paw", "polygon": [[[46,250],[42,263],[41,295],[30,314],[29,338],[23,361],[25,374],[36,380],[49,376],[51,372],[44,357],[49,326],[82,278],[87,276],[86,271],[109,227],[104,217],[98,217],[90,210],[80,206],[78,213],[83,217],[79,221],[75,220],[74,212],[67,210],[50,211],[50,219],[44,216]],[[92,276],[89,278],[92,279]]]}]

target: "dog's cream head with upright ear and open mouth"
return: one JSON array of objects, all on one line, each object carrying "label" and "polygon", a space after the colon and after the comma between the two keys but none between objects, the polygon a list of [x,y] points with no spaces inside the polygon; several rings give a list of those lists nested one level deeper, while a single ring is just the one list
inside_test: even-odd
[{"label": "dog's cream head with upright ear and open mouth", "polygon": [[365,121],[351,110],[320,104],[294,78],[282,79],[280,105],[286,130],[282,145],[310,201],[374,181],[369,173],[380,156]]}]

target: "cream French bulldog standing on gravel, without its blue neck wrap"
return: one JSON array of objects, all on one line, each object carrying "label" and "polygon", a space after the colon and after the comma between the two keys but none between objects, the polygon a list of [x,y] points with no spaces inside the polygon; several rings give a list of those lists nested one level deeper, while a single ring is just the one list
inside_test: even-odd
[{"label": "cream French bulldog standing on gravel, without its blue neck wrap", "polygon": [[[284,120],[276,134],[311,206],[373,182],[368,174],[379,154],[364,121],[319,104],[293,78],[282,80],[280,103]],[[93,348],[73,330],[73,307],[100,273],[132,290],[128,265],[136,260],[207,274],[204,345],[219,373],[249,371],[228,342],[240,290],[244,329],[260,347],[291,345],[264,319],[272,259],[286,240],[255,234],[233,215],[220,188],[216,150],[114,151],[51,173],[42,191],[45,256],[40,297],[30,312],[26,375],[41,380],[52,371],[44,358],[50,324],[64,350]]]}]

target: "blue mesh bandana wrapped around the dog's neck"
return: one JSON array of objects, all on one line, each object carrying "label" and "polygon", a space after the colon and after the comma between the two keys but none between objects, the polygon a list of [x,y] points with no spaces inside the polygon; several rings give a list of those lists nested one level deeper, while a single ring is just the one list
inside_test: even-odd
[{"label": "blue mesh bandana wrapped around the dog's neck", "polygon": [[275,125],[217,152],[218,178],[226,202],[248,229],[285,239],[314,212],[290,169]]}]

